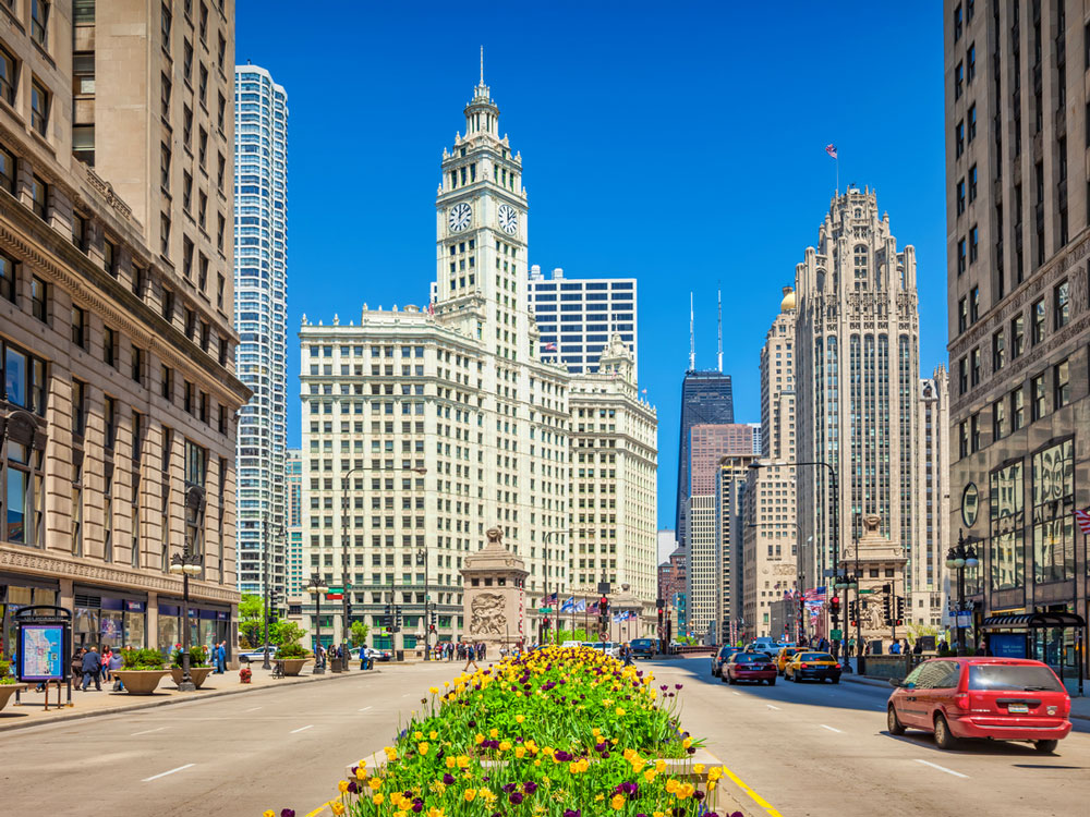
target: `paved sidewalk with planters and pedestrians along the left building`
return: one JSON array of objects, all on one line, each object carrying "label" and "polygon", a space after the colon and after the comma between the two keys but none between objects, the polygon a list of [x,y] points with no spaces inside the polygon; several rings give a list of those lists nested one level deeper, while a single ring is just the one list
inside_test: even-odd
[{"label": "paved sidewalk with planters and pedestrians along the left building", "polygon": [[[0,732],[12,729],[23,729],[26,727],[37,727],[45,723],[56,723],[60,721],[77,720],[80,718],[92,718],[97,715],[117,715],[119,712],[134,711],[137,709],[149,709],[157,706],[169,706],[171,704],[184,704],[191,700],[205,700],[216,698],[221,695],[239,695],[243,693],[256,693],[264,690],[276,690],[296,684],[306,684],[320,681],[331,681],[339,678],[358,678],[360,675],[373,675],[379,670],[351,670],[349,672],[329,672],[322,675],[306,674],[295,678],[272,678],[271,670],[261,669],[261,664],[251,664],[253,676],[249,684],[239,681],[238,670],[228,670],[222,675],[209,675],[202,688],[196,692],[180,693],[174,687],[174,682],[168,675],[159,682],[158,688],[152,695],[130,695],[126,692],[111,692],[112,682],[104,682],[102,691],[96,692],[94,686],[88,692],[80,692],[72,687],[73,706],[55,708],[56,690],[50,691],[49,711],[45,711],[45,693],[35,692],[34,687],[24,691],[20,697],[21,703],[15,704],[14,697],[8,705],[0,709]],[[66,703],[68,690],[62,690],[61,700]]]}]

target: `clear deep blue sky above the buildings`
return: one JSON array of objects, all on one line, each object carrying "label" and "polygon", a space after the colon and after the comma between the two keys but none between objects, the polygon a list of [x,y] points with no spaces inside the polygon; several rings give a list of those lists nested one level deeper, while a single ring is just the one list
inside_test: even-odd
[{"label": "clear deep blue sky above the buildings", "polygon": [[640,379],[658,410],[658,517],[673,526],[689,291],[697,364],[760,419],[780,288],[840,187],[877,190],[917,249],[921,366],[946,361],[942,4],[238,0],[235,59],[288,90],[289,442],[301,316],[424,304],[439,160],[477,82],[522,153],[530,263],[639,279]]}]

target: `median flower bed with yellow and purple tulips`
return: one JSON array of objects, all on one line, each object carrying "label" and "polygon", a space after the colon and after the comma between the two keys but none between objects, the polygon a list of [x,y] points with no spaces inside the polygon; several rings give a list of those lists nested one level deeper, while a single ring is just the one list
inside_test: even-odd
[{"label": "median flower bed with yellow and purple tulips", "polygon": [[392,745],[352,767],[329,808],[712,817],[723,769],[700,763],[700,743],[680,731],[680,688],[583,647],[506,659],[432,687]]}]

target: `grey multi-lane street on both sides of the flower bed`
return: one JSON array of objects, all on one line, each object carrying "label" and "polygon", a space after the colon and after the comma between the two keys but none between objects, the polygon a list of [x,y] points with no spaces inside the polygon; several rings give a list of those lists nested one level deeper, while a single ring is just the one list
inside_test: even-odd
[{"label": "grey multi-lane street on both sides of the flower bed", "polygon": [[[685,727],[771,806],[803,815],[1069,815],[1086,813],[1085,721],[1040,755],[1022,744],[941,752],[929,735],[885,732],[887,693],[843,682],[727,686],[704,658],[640,662],[681,683]],[[111,812],[167,817],[299,817],[336,793],[344,767],[390,742],[427,687],[457,662],[383,666],[303,684],[9,732],[0,737],[5,814]],[[770,812],[725,780],[748,814]]]}]

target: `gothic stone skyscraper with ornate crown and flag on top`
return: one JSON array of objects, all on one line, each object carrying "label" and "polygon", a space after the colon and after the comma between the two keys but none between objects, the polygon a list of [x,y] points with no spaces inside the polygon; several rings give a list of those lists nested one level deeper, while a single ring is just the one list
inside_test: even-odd
[{"label": "gothic stone skyscraper with ornate crown and flag on top", "polygon": [[873,191],[834,196],[818,246],[796,267],[796,461],[831,466],[840,495],[835,548],[829,468],[798,467],[799,522],[814,537],[807,584],[823,584],[864,514],[881,516],[882,535],[906,549],[911,576],[922,531],[916,252],[898,252]]}]

